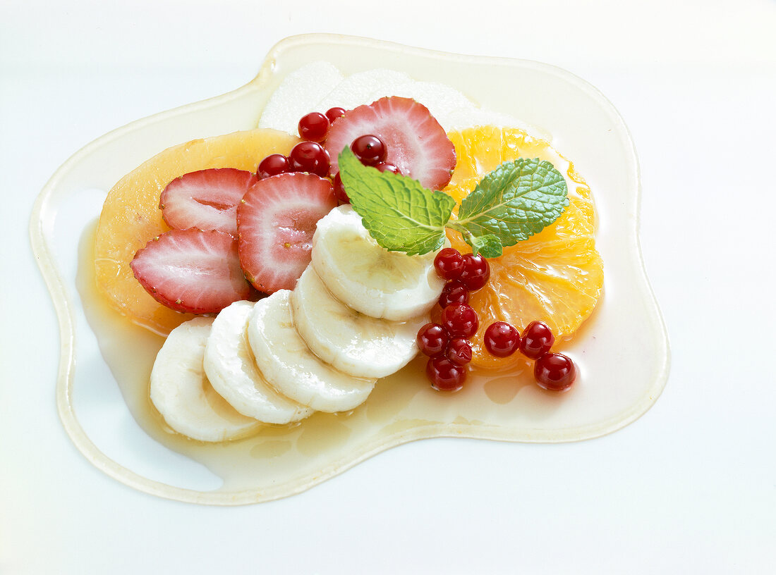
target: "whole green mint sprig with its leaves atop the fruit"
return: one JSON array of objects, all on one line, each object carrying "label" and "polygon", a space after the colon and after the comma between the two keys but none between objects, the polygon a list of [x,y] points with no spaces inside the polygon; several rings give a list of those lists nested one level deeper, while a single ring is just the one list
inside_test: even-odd
[{"label": "whole green mint sprig with its leaves atop the fruit", "polygon": [[411,177],[361,164],[349,147],[338,157],[340,177],[369,234],[387,250],[409,255],[438,250],[445,227],[455,229],[483,257],[501,256],[507,246],[553,223],[569,204],[563,175],[547,161],[518,158],[483,177],[461,202],[424,188]]}]

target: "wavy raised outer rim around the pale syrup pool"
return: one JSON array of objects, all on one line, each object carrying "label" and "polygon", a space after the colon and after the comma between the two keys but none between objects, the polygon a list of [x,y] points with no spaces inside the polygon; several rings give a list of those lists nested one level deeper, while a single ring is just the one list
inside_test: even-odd
[{"label": "wavy raised outer rim around the pale syrup pool", "polygon": [[[629,200],[632,201],[636,207],[636,221],[634,229],[630,230],[631,235],[629,235],[629,240],[631,240],[632,243],[630,249],[635,250],[635,253],[632,255],[636,257],[636,263],[638,263],[638,287],[642,292],[641,296],[644,298],[644,303],[646,303],[647,306],[648,318],[653,324],[654,332],[660,336],[660,341],[656,343],[656,346],[663,351],[660,365],[656,366],[656,377],[653,381],[653,385],[646,394],[643,395],[640,401],[636,402],[636,404],[630,406],[628,410],[618,414],[616,417],[598,422],[595,425],[588,425],[584,428],[577,427],[573,429],[564,429],[560,432],[555,431],[549,433],[544,430],[537,430],[536,433],[528,433],[528,436],[526,436],[525,433],[521,434],[520,438],[516,438],[514,432],[509,432],[508,430],[497,427],[488,428],[480,426],[476,429],[476,433],[473,433],[472,429],[466,425],[446,424],[424,426],[393,436],[390,441],[379,442],[379,444],[376,445],[365,444],[357,453],[352,453],[351,458],[348,460],[331,463],[325,469],[320,470],[320,473],[317,473],[313,478],[306,478],[295,484],[286,484],[280,486],[276,490],[273,489],[272,491],[265,491],[263,493],[257,493],[255,490],[237,491],[232,493],[210,493],[193,491],[180,487],[171,487],[167,484],[149,480],[146,477],[121,466],[119,463],[109,459],[109,457],[104,455],[95,446],[79,424],[78,418],[74,413],[73,405],[71,405],[70,401],[74,380],[75,356],[77,352],[77,342],[74,332],[74,302],[71,299],[71,294],[68,294],[68,287],[65,285],[61,272],[57,269],[56,260],[47,240],[47,235],[50,235],[54,223],[57,200],[66,197],[68,193],[71,193],[75,188],[84,187],[82,181],[79,181],[78,179],[78,172],[84,171],[85,167],[90,163],[90,159],[94,160],[95,157],[99,156],[99,153],[104,153],[106,148],[116,145],[116,143],[120,143],[123,139],[139,136],[142,133],[147,134],[150,131],[157,139],[159,139],[159,136],[165,132],[161,129],[161,126],[166,120],[175,119],[181,115],[195,115],[198,112],[203,112],[205,110],[213,112],[213,108],[223,108],[225,112],[223,115],[211,114],[212,117],[210,118],[210,122],[214,122],[218,126],[218,129],[213,129],[212,132],[207,132],[206,130],[208,128],[203,128],[201,124],[192,122],[193,125],[196,125],[196,128],[192,126],[192,131],[196,130],[196,133],[192,132],[192,139],[210,135],[210,133],[227,133],[236,129],[247,129],[248,127],[255,126],[258,122],[260,110],[263,107],[263,101],[268,98],[268,95],[272,92],[272,88],[274,88],[272,86],[273,82],[279,81],[279,78],[275,77],[276,68],[289,64],[286,62],[286,57],[289,53],[293,53],[294,50],[309,50],[311,46],[316,45],[330,48],[331,50],[352,50],[354,47],[369,48],[369,50],[377,50],[379,52],[402,53],[410,58],[422,57],[423,59],[444,60],[450,63],[487,63],[504,67],[529,67],[541,71],[542,73],[556,75],[561,77],[564,81],[574,84],[580,90],[591,95],[603,108],[605,108],[608,115],[611,116],[611,119],[614,120],[618,127],[618,136],[621,140],[620,144],[623,146],[624,150],[627,150],[629,162],[631,164],[629,166],[629,171],[632,173],[632,191],[629,192],[631,195]],[[291,59],[293,60],[293,57]],[[321,59],[325,58],[322,56]],[[299,64],[300,63],[297,63],[296,65],[298,66]],[[293,69],[293,67],[296,66],[291,62],[289,67]],[[259,105],[258,109],[255,106],[255,100],[257,98],[262,101],[262,105]],[[251,115],[253,115],[252,120]],[[250,125],[247,126],[246,122]],[[205,130],[204,133],[203,130]],[[164,136],[162,136],[161,139],[163,140]],[[159,151],[181,141],[185,141],[185,139],[180,138],[178,133],[176,133],[175,136],[170,134],[168,135],[168,142],[161,141],[159,143],[159,146],[161,146]],[[144,152],[143,154],[147,153]],[[140,164],[140,162],[147,159],[147,157],[147,155],[144,155],[144,157],[140,157],[139,159],[128,157],[126,158],[126,169],[123,167],[118,168],[117,170],[120,171],[120,174],[116,177],[114,177],[115,174],[110,176],[106,175],[103,177],[104,181],[91,182],[90,185],[107,190],[113,186],[119,177],[132,170]],[[88,170],[86,171],[88,173]],[[90,175],[93,175],[93,172]],[[593,439],[610,432],[615,432],[635,421],[646,413],[646,411],[654,404],[666,384],[670,363],[667,330],[660,313],[660,308],[657,305],[656,298],[646,276],[643,255],[639,243],[640,195],[641,184],[636,150],[633,146],[629,130],[627,129],[627,126],[625,126],[625,122],[622,120],[622,117],[618,114],[614,106],[611,105],[611,102],[609,102],[597,88],[594,88],[591,84],[587,83],[587,81],[582,80],[570,72],[564,71],[558,67],[530,60],[514,60],[501,57],[477,57],[445,53],[415,48],[412,46],[404,46],[397,43],[387,43],[380,40],[370,40],[357,36],[337,36],[330,34],[290,36],[273,46],[267,57],[265,57],[264,63],[257,76],[241,88],[200,102],[184,105],[166,112],[159,112],[158,114],[148,116],[144,119],[139,119],[126,126],[106,133],[106,135],[87,144],[81,148],[81,150],[78,150],[77,153],[74,153],[71,158],[57,169],[50,178],[50,181],[47,182],[40,192],[38,198],[36,198],[30,218],[30,241],[41,274],[43,275],[43,279],[47,284],[54,302],[57,320],[60,325],[61,350],[59,367],[57,370],[57,411],[59,412],[66,432],[68,432],[68,435],[71,437],[71,440],[79,451],[81,451],[90,463],[110,477],[113,477],[130,487],[134,487],[139,491],[158,495],[162,498],[192,503],[220,505],[258,503],[300,493],[301,491],[305,491],[308,488],[355,466],[357,463],[376,455],[376,453],[416,439],[456,436],[513,442],[571,442]]]}]

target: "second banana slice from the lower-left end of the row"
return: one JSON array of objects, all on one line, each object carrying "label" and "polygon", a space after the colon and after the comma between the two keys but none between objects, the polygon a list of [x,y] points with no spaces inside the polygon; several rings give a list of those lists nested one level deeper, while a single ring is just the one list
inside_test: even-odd
[{"label": "second banana slice from the lower-left end of the row", "polygon": [[306,418],[313,410],[275,391],[256,365],[246,333],[253,306],[252,301],[235,301],[219,312],[205,346],[205,374],[242,415],[281,424]]}]

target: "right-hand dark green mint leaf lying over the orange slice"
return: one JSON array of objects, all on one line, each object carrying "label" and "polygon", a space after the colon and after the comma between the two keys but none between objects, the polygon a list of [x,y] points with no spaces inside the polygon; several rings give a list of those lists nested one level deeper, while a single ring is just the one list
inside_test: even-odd
[{"label": "right-hand dark green mint leaf lying over the orange slice", "polygon": [[[566,180],[547,161],[518,158],[504,162],[483,177],[461,202],[456,229],[472,248],[478,238],[484,257],[492,253],[496,236],[501,246],[514,246],[553,223],[569,205]],[[468,234],[468,236],[467,236]],[[501,250],[499,250],[501,255]]]}]

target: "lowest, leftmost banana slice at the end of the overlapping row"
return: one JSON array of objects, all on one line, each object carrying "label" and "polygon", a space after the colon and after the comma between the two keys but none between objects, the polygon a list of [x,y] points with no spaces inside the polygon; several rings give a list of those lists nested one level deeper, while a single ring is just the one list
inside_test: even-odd
[{"label": "lowest, leftmost banana slice at the end of the overlapping row", "polygon": [[167,336],[151,370],[151,401],[176,432],[218,442],[251,435],[262,423],[241,415],[210,385],[203,368],[213,318],[194,318]]}]

